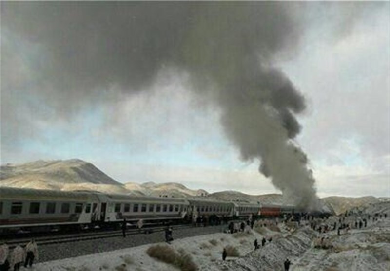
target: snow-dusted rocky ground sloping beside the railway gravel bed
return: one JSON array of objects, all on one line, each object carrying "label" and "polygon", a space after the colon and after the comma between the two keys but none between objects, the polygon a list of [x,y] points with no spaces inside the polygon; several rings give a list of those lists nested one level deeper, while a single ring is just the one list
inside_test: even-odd
[{"label": "snow-dusted rocky ground sloping beside the railway gravel bed", "polygon": [[[247,228],[246,234],[211,234],[177,239],[168,245],[175,251],[185,251],[192,256],[198,270],[283,270],[283,262],[289,258],[292,262],[290,270],[337,271],[337,270],[390,270],[390,218],[389,204],[378,205],[387,217],[372,221],[372,214],[377,209],[370,206],[359,215],[345,218],[345,222],[368,217],[367,227],[351,230],[329,231],[319,234],[309,226],[293,227],[293,223],[285,225],[279,223],[279,231],[275,226],[262,227],[260,233]],[[317,221],[321,224],[332,225],[340,217],[331,217]],[[302,224],[308,224],[305,221]],[[310,222],[309,222],[310,223]],[[254,239],[273,237],[264,247],[254,251]],[[324,237],[329,248],[315,248],[318,238]],[[36,264],[30,270],[179,270],[173,265],[163,263],[150,257],[146,251],[156,244],[122,249],[107,253],[98,253],[75,258],[62,259]],[[237,248],[239,257],[228,257],[222,261],[223,248],[232,246]],[[23,268],[21,269],[23,270]]]}]

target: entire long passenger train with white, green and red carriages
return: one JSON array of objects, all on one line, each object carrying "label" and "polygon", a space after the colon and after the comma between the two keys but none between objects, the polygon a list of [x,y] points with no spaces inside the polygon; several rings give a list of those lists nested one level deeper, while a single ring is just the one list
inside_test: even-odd
[{"label": "entire long passenger train with white, green and red carriages", "polygon": [[280,217],[293,206],[231,202],[208,198],[159,198],[0,187],[0,233],[18,230],[63,230],[136,224],[179,223],[206,219]]}]

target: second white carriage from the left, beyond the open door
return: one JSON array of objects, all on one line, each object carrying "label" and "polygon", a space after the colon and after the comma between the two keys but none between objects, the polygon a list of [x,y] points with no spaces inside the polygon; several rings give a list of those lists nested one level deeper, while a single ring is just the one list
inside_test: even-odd
[{"label": "second white carriage from the left, beyond the open door", "polygon": [[100,201],[100,217],[104,222],[127,221],[157,222],[181,220],[187,214],[189,202],[178,198],[157,198],[129,195],[97,195]]}]

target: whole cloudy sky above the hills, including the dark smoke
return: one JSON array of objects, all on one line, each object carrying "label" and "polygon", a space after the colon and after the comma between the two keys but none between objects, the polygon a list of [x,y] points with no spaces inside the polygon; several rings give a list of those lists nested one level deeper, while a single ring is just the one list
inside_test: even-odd
[{"label": "whole cloudy sky above the hills, including the dark smoke", "polygon": [[0,7],[1,165],[390,196],[389,2]]}]

